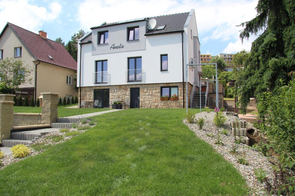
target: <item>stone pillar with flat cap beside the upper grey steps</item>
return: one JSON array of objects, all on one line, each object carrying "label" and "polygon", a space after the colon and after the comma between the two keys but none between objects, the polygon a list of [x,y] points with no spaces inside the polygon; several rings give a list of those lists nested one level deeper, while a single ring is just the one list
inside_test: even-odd
[{"label": "stone pillar with flat cap beside the upper grey steps", "polygon": [[56,123],[58,93],[40,93],[42,98],[42,124]]}]

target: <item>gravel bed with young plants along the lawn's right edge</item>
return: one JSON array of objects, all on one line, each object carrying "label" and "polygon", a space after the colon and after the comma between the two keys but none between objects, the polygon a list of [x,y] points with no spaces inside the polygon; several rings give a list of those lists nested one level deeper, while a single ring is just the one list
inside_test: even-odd
[{"label": "gravel bed with young plants along the lawn's right edge", "polygon": [[[264,190],[266,185],[264,183],[258,182],[254,171],[258,168],[263,169],[266,171],[266,175],[269,179],[273,179],[273,172],[272,172],[272,164],[268,161],[268,158],[264,156],[262,153],[251,149],[249,146],[245,144],[236,144],[236,153],[230,153],[232,150],[232,145],[235,143],[235,137],[231,133],[231,120],[238,120],[239,118],[235,116],[227,116],[225,113],[227,120],[225,125],[222,127],[224,129],[228,129],[228,134],[223,135],[220,133],[222,142],[224,145],[215,144],[217,139],[217,127],[213,123],[215,112],[201,112],[195,115],[195,120],[199,118],[204,118],[204,126],[200,130],[199,126],[196,123],[188,123],[186,119],[183,120],[183,123],[186,124],[192,131],[196,133],[196,135],[201,138],[202,140],[206,141],[212,147],[217,150],[226,160],[234,165],[234,167],[242,174],[245,178],[248,187],[250,187],[251,192],[253,195],[265,195]],[[222,130],[220,128],[220,130]],[[207,136],[207,134],[212,134],[213,136]],[[236,136],[238,139],[239,137]],[[247,160],[248,165],[243,165],[238,163],[238,159],[243,157]]]}]

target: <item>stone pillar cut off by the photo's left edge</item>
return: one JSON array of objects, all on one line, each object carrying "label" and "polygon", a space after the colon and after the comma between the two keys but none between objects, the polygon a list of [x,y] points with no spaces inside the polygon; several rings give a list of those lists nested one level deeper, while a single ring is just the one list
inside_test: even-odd
[{"label": "stone pillar cut off by the photo's left edge", "polygon": [[2,140],[10,139],[10,133],[13,129],[14,96],[0,94],[0,135],[4,135]]}]

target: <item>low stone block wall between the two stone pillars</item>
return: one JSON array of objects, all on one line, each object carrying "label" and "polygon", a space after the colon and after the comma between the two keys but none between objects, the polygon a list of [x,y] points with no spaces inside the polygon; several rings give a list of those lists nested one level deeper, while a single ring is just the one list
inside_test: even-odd
[{"label": "low stone block wall between the two stone pillars", "polygon": [[13,126],[40,125],[42,114],[39,113],[13,113]]}]

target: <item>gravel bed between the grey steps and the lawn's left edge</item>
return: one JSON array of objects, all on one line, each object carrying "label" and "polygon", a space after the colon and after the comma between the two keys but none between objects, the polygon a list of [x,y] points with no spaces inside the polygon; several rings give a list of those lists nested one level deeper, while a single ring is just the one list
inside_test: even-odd
[{"label": "gravel bed between the grey steps and the lawn's left edge", "polygon": [[[87,123],[85,123],[85,124],[82,124],[81,122],[79,122],[79,123],[77,123],[77,127],[82,127],[82,126],[88,125],[90,128],[92,128],[92,127],[96,126],[96,123],[94,125],[92,125],[92,126],[89,125],[88,123],[89,123],[89,120],[87,120]],[[85,132],[86,130],[79,130],[79,134]],[[68,132],[71,132],[71,131],[78,131],[78,128],[71,128],[71,129],[69,129]],[[45,145],[56,145],[56,144],[59,144],[59,143],[63,143],[66,140],[71,139],[72,137],[77,136],[77,135],[65,136],[65,133],[68,133],[68,132],[59,132],[59,131],[49,132],[46,135],[42,135],[39,139],[37,139],[34,142],[34,144],[35,143],[44,143]],[[61,135],[61,136],[63,136],[63,139],[61,141],[59,141],[59,142],[52,141],[52,139],[47,139],[47,137],[53,136],[53,135]],[[42,153],[43,151],[44,150],[35,151],[35,150],[33,150],[31,148],[31,153],[27,157],[35,156],[37,154]],[[25,158],[27,158],[27,157],[25,157]],[[4,155],[3,158],[1,159],[2,165],[0,165],[0,169],[3,169],[4,167],[6,167],[7,165],[10,165],[11,163],[18,162],[18,161],[23,160],[25,158],[13,158],[12,154]]]}]

